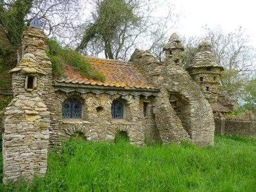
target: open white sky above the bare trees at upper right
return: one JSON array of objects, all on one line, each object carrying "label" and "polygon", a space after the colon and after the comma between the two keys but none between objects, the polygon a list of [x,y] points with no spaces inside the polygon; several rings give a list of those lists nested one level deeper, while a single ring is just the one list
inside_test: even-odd
[{"label": "open white sky above the bare trees at upper right", "polygon": [[256,47],[255,0],[161,0],[175,5],[180,13],[177,33],[184,36],[200,35],[202,26],[215,28],[220,25],[224,32],[242,27],[250,36],[250,46]]}]

